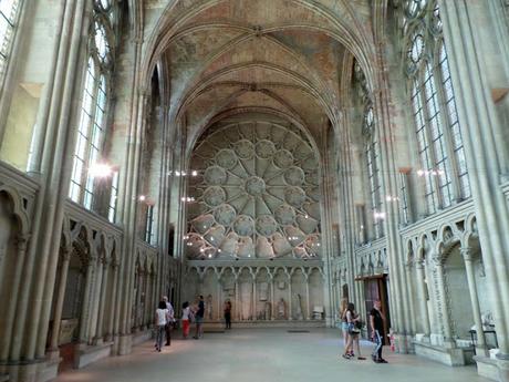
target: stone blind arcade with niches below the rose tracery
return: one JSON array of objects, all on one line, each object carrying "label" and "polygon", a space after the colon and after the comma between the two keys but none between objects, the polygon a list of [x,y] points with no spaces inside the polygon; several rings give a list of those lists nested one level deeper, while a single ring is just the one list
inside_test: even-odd
[{"label": "stone blind arcade with niches below the rose tracery", "polygon": [[202,295],[206,322],[221,322],[230,301],[237,322],[323,321],[313,314],[323,309],[321,262],[302,266],[220,266],[193,261],[185,273],[183,301],[197,303]]}]

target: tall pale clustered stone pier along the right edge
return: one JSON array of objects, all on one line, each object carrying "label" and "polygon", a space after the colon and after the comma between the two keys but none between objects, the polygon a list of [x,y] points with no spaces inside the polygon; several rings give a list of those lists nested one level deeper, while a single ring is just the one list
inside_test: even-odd
[{"label": "tall pale clustered stone pier along the right edge", "polygon": [[[480,41],[478,20],[474,19],[482,12],[486,17],[487,7],[497,3],[500,2],[439,1],[458,117],[469,154],[466,155],[467,166],[474,169],[469,172],[469,179],[486,276],[490,295],[497,301],[492,308],[500,349],[497,354],[500,379],[509,381],[509,209],[500,187],[507,178],[508,161],[503,140],[498,138],[507,126],[497,114],[489,81],[490,70],[497,64],[502,70],[505,62],[502,55],[490,51],[491,45],[487,48]],[[503,16],[491,13],[481,20],[496,24],[497,18]]]}]

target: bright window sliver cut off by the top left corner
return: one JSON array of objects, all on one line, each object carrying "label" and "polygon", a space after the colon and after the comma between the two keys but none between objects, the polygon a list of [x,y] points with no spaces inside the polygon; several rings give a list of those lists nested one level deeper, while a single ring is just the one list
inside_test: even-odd
[{"label": "bright window sliver cut off by the top left corner", "polygon": [[0,1],[0,84],[3,82],[9,62],[19,9],[19,0]]}]

